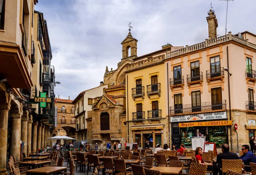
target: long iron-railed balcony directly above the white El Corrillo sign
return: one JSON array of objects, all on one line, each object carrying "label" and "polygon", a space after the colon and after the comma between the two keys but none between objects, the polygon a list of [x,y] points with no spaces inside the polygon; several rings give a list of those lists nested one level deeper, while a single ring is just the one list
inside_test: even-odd
[{"label": "long iron-railed balcony directly above the white El Corrillo sign", "polygon": [[212,111],[212,110],[226,110],[227,103],[226,100],[216,101],[216,102],[203,102],[201,106],[192,106],[192,104],[175,104],[175,106],[170,107],[170,114],[179,113],[196,113],[201,111]]}]

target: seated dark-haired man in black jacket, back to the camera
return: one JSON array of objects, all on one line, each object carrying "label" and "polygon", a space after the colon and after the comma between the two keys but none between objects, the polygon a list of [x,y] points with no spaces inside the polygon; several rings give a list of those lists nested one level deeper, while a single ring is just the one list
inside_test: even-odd
[{"label": "seated dark-haired man in black jacket, back to the camera", "polygon": [[218,164],[218,171],[222,174],[220,168],[222,168],[222,159],[239,159],[238,155],[235,152],[229,152],[228,144],[221,145],[222,153],[217,155],[216,163]]}]

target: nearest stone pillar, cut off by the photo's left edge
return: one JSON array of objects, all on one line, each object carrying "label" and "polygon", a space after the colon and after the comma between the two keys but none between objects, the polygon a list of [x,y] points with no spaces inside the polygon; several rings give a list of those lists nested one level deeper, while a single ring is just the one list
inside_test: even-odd
[{"label": "nearest stone pillar, cut off by the photo's left edge", "polygon": [[[9,98],[8,98],[9,96]],[[0,92],[0,175],[7,175],[6,153],[8,135],[8,112],[10,110],[11,96],[6,92]]]}]

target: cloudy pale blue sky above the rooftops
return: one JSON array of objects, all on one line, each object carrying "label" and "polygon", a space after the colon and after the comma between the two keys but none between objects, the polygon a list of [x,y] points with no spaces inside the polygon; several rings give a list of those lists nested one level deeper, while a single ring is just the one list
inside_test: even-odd
[{"label": "cloudy pale blue sky above the rooftops", "polygon": [[[117,68],[120,44],[128,34],[138,40],[137,56],[173,46],[193,45],[208,37],[206,17],[211,8],[218,19],[218,35],[225,34],[224,0],[39,0],[44,13],[55,66],[55,94],[75,99],[83,90],[99,86],[105,68]],[[228,3],[227,32],[256,34],[256,0]]]}]

